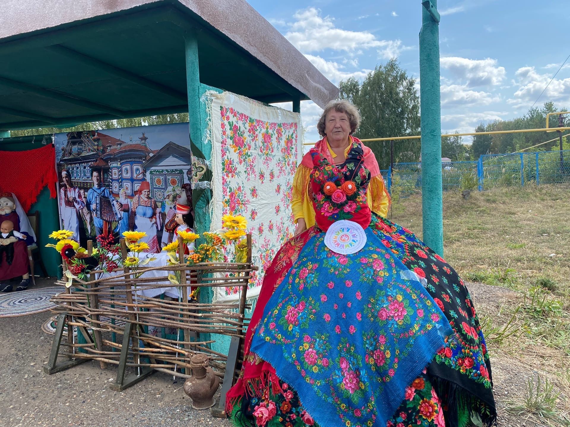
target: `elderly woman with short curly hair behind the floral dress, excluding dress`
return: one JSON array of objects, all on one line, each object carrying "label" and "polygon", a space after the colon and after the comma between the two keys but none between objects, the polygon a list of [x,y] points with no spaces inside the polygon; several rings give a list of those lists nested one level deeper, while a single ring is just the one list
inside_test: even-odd
[{"label": "elderly woman with short curly hair behind the floral dress, excluding dress", "polygon": [[[323,139],[315,144],[315,150],[327,157],[331,164],[342,165],[347,158],[351,143],[360,142],[360,139],[352,136],[359,124],[360,113],[354,105],[345,100],[330,102],[317,123],[317,130]],[[374,154],[368,147],[363,146],[363,149],[364,162],[371,175],[366,202],[372,212],[385,217],[390,196]],[[297,224],[295,236],[315,225],[315,210],[311,194],[307,191],[312,169],[312,160],[306,155],[293,179],[291,206]]]}]

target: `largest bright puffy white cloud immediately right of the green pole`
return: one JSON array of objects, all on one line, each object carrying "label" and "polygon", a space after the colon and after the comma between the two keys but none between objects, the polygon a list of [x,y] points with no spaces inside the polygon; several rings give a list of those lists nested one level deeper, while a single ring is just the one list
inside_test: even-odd
[{"label": "largest bright puffy white cloud immediately right of the green pole", "polygon": [[469,87],[498,85],[506,71],[504,67],[498,67],[496,59],[468,59],[458,56],[446,56],[440,59],[441,68],[447,69],[454,77]]}]

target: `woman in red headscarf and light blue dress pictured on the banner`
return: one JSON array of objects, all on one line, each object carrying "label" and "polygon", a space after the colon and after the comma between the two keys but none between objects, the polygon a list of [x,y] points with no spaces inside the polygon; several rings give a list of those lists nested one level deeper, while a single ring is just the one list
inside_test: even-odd
[{"label": "woman in red headscarf and light blue dress pictured on the banner", "polygon": [[149,248],[144,252],[158,253],[157,232],[157,206],[154,199],[150,198],[150,184],[148,181],[141,182],[137,195],[132,200],[130,227],[132,230],[144,231],[146,236],[141,239]]}]

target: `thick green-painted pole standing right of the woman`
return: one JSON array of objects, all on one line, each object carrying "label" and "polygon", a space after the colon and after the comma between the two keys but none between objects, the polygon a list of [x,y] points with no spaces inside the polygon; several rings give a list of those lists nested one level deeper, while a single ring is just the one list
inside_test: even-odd
[{"label": "thick green-painted pole standing right of the woman", "polygon": [[424,242],[443,256],[441,182],[441,101],[437,0],[422,3],[420,31],[420,112]]}]

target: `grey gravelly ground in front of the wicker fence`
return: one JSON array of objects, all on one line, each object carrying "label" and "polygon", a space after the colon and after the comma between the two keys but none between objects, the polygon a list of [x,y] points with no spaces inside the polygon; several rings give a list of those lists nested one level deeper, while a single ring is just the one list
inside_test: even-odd
[{"label": "grey gravelly ground in front of the wicker fence", "polygon": [[[51,282],[38,281],[37,287]],[[123,392],[109,388],[116,367],[99,362],[46,375],[53,335],[42,324],[53,314],[0,318],[0,426],[231,426],[231,422],[195,410],[183,381],[155,372]]]}]

